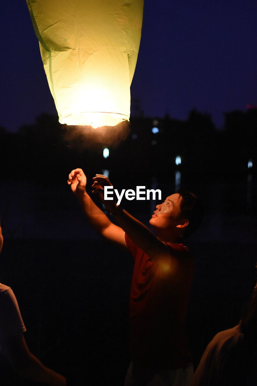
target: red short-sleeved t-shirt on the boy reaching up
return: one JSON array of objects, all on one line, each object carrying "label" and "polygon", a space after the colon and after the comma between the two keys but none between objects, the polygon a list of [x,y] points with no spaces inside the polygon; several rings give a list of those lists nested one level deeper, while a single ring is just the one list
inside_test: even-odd
[{"label": "red short-sleeved t-shirt on the boy reaching up", "polygon": [[134,363],[178,369],[191,361],[185,333],[194,258],[183,244],[167,244],[164,270],[125,234],[135,259],[130,289],[130,354]]}]

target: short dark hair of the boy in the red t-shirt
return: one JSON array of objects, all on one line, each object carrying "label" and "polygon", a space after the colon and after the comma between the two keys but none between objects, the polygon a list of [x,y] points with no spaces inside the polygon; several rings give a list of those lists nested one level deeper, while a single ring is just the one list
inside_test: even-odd
[{"label": "short dark hair of the boy in the red t-shirt", "polygon": [[180,210],[183,218],[188,218],[189,223],[184,231],[184,237],[189,237],[198,229],[203,221],[203,206],[198,197],[188,190],[179,189],[181,196]]}]

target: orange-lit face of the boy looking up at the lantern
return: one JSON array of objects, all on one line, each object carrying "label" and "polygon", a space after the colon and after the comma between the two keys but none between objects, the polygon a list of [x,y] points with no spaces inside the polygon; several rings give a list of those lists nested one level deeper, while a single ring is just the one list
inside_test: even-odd
[{"label": "orange-lit face of the boy looking up at the lantern", "polygon": [[156,210],[149,221],[150,224],[160,229],[176,227],[182,219],[180,201],[181,196],[178,193],[168,196],[163,203],[156,206]]}]

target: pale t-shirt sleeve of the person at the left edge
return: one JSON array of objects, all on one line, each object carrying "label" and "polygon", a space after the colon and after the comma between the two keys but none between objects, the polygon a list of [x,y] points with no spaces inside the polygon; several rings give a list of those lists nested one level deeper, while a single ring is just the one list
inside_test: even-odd
[{"label": "pale t-shirt sleeve of the person at the left edge", "polygon": [[0,284],[0,339],[26,331],[19,305],[10,287]]}]

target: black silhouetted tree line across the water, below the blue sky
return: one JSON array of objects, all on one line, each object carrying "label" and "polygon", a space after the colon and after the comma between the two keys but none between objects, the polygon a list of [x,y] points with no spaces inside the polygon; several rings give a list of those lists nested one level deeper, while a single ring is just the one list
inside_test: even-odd
[{"label": "black silhouetted tree line across the water, below the blue sky", "polygon": [[[154,134],[152,127],[159,132]],[[117,131],[118,130],[118,131]],[[118,138],[118,139],[117,139]],[[110,156],[103,159],[103,149]],[[193,110],[186,121],[132,117],[122,124],[92,129],[59,124],[57,117],[42,114],[32,125],[9,133],[0,127],[0,173],[3,177],[29,178],[42,183],[66,179],[78,166],[115,171],[247,171],[255,168],[257,110],[225,114],[225,127],[216,130],[211,116]],[[181,165],[175,164],[181,156]]]}]

